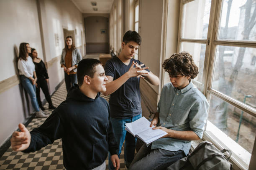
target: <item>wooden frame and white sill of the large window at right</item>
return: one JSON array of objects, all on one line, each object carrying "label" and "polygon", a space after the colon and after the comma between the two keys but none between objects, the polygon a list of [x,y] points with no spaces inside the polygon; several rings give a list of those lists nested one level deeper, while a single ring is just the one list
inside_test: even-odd
[{"label": "wooden frame and white sill of the large window at right", "polygon": [[[233,105],[244,112],[256,117],[256,110],[253,107],[250,107],[243,102],[234,100],[233,98],[225,95],[217,90],[212,89],[212,77],[214,71],[214,64],[215,64],[215,54],[218,45],[226,45],[226,46],[236,46],[236,47],[256,47],[256,41],[241,41],[241,40],[218,40],[218,28],[220,25],[220,15],[221,15],[221,7],[223,0],[212,0],[211,8],[210,8],[210,19],[209,19],[209,26],[207,32],[207,39],[195,39],[195,38],[182,38],[182,24],[183,24],[183,6],[184,4],[191,2],[194,0],[181,0],[180,1],[180,14],[179,14],[179,33],[178,33],[178,45],[177,45],[177,52],[181,49],[182,42],[193,42],[193,43],[200,43],[206,44],[205,50],[205,63],[203,68],[203,77],[202,82],[198,82],[193,80],[193,83],[202,89],[203,94],[207,97],[208,102],[210,103],[210,96],[215,95],[220,99],[228,102],[230,105]],[[207,128],[213,127],[211,123],[207,122]],[[207,130],[204,133],[204,140],[209,140],[213,144],[215,144],[218,148],[236,148],[232,150],[233,155],[230,159],[234,165],[234,169],[248,169],[251,154],[248,155],[248,152],[238,145],[233,140],[229,139],[227,135],[225,135],[222,131],[218,131],[221,133],[222,137],[212,134]],[[225,137],[226,136],[226,137]],[[221,140],[220,140],[221,138]],[[232,142],[233,141],[233,142]],[[256,141],[254,141],[256,142]],[[255,145],[255,144],[254,144]],[[242,149],[241,149],[242,148]],[[256,148],[254,148],[255,150]],[[253,152],[255,153],[255,151]]]}]

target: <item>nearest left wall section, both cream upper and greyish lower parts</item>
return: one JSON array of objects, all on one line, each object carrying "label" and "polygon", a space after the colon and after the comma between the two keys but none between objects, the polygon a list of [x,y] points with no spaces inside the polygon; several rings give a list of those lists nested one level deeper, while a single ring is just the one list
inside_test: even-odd
[{"label": "nearest left wall section, both cream upper and greyish lower parts", "polygon": [[[3,81],[17,74],[16,53],[21,42],[38,49],[39,56],[42,56],[42,45],[35,0],[1,0],[0,16],[0,81]],[[0,93],[0,145],[18,128],[18,123],[25,121],[27,110],[23,109],[20,92],[15,85]]]}]

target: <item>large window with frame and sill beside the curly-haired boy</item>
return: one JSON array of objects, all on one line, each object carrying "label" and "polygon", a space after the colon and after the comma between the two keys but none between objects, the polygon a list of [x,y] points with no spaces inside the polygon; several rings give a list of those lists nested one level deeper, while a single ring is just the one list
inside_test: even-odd
[{"label": "large window with frame and sill beside the curly-haired boy", "polygon": [[210,104],[205,136],[248,169],[256,135],[256,1],[181,0],[180,19],[178,51],[200,67],[192,81]]}]

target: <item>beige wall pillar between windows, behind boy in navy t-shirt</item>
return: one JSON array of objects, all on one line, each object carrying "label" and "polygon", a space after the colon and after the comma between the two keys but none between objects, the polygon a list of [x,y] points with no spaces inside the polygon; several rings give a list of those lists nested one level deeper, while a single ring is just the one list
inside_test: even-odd
[{"label": "beige wall pillar between windows, behind boy in navy t-shirt", "polygon": [[[139,5],[142,42],[138,59],[159,77],[164,3],[162,0],[141,0]],[[151,85],[151,87],[160,94],[158,86]]]}]

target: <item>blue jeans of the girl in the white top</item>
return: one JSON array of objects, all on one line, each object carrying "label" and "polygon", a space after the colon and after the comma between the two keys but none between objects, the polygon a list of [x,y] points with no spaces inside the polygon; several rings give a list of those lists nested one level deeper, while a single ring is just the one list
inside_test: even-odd
[{"label": "blue jeans of the girl in the white top", "polygon": [[36,100],[36,85],[33,85],[31,80],[28,77],[24,76],[24,75],[20,75],[20,81],[21,81],[21,84],[22,84],[23,88],[26,90],[26,92],[30,96],[31,104],[32,104],[34,110],[36,112],[38,112],[39,111],[39,105],[38,105],[38,102]]}]

